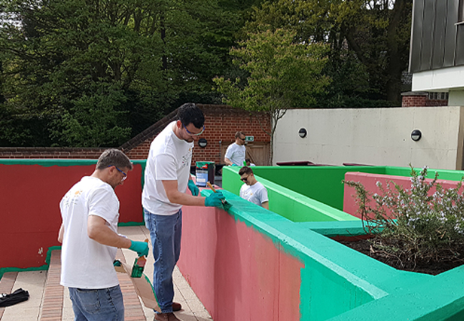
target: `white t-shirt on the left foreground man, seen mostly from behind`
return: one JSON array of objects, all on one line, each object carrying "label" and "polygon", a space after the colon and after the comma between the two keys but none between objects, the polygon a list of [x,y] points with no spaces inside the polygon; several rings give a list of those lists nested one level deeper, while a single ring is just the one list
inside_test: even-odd
[{"label": "white t-shirt on the left foreground man, seen mostly from behind", "polygon": [[117,233],[119,200],[114,189],[99,178],[86,176],[60,202],[64,238],[61,246],[61,282],[65,287],[103,289],[119,284],[113,261],[116,248],[87,235],[89,215],[106,220]]}]

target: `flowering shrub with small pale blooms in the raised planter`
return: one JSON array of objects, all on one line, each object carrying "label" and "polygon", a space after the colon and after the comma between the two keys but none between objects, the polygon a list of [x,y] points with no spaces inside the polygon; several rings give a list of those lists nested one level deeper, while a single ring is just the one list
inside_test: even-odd
[{"label": "flowering shrub with small pale blooms in the raised planter", "polygon": [[[456,188],[442,188],[411,167],[410,189],[393,181],[377,182],[380,193],[370,193],[361,183],[343,181],[356,190],[359,213],[370,239],[371,252],[403,267],[448,261],[464,263],[464,177]],[[435,187],[435,192],[433,188]],[[370,203],[375,203],[370,205]]]}]

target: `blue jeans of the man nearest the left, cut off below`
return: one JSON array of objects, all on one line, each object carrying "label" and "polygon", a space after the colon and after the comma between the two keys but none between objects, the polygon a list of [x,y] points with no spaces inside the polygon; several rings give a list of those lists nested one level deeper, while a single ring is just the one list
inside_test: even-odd
[{"label": "blue jeans of the man nearest the left, cut off below", "polygon": [[78,289],[69,287],[74,321],[124,321],[121,287]]}]

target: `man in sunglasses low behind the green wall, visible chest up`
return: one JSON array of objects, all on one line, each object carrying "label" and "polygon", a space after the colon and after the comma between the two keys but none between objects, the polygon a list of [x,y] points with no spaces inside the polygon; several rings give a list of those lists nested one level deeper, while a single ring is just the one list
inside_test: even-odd
[{"label": "man in sunglasses low behind the green wall, visible chest up", "polygon": [[240,188],[240,197],[268,210],[268,190],[256,180],[253,170],[248,166],[243,166],[238,170],[238,175],[240,175],[240,179],[245,183]]}]

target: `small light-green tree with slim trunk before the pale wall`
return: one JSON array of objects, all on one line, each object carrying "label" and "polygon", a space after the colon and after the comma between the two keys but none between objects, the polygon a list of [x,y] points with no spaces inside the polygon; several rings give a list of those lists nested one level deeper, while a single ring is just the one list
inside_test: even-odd
[{"label": "small light-green tree with slim trunk before the pale wall", "polygon": [[327,62],[326,46],[299,43],[295,32],[277,29],[248,34],[248,40],[231,49],[241,69],[249,76],[241,80],[214,78],[223,101],[246,111],[264,111],[271,116],[271,163],[277,122],[287,108],[311,106],[314,96],[330,82],[321,76]]}]

